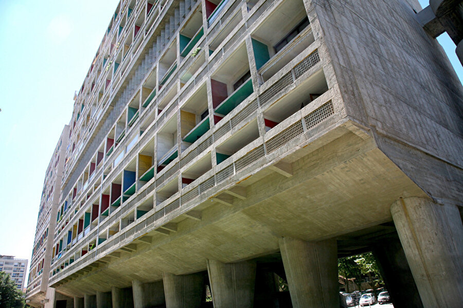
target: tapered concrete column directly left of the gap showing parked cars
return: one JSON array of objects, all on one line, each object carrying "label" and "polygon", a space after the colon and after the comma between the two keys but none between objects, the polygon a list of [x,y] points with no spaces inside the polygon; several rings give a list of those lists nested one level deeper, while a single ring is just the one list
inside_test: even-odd
[{"label": "tapered concrete column directly left of the gap showing parked cars", "polygon": [[339,307],[336,240],[279,244],[293,307]]}]

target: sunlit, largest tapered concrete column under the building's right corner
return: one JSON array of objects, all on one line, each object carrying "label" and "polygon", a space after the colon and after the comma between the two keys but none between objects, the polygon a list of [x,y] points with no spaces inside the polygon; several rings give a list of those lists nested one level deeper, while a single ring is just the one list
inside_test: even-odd
[{"label": "sunlit, largest tapered concrete column under the building's right corner", "polygon": [[463,225],[456,205],[399,199],[391,214],[424,307],[461,307]]}]

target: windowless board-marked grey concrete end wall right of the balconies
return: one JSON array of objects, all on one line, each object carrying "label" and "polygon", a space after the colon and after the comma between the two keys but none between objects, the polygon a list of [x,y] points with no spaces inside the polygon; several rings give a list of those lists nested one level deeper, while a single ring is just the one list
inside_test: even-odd
[{"label": "windowless board-marked grey concrete end wall right of the balconies", "polygon": [[[439,178],[461,179],[463,88],[438,42],[415,19],[419,4],[307,3],[324,33],[349,117],[372,129],[386,155],[433,198],[461,200],[461,182],[447,182],[458,191],[447,196],[434,175],[420,172],[422,153],[415,153],[431,156],[426,163]],[[391,142],[406,154],[384,145]]]}]

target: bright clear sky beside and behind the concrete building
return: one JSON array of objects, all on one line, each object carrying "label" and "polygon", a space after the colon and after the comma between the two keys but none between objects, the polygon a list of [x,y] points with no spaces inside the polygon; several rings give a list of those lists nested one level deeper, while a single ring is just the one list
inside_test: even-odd
[{"label": "bright clear sky beside and behind the concrete building", "polygon": [[0,254],[30,259],[45,170],[117,3],[0,0]]}]

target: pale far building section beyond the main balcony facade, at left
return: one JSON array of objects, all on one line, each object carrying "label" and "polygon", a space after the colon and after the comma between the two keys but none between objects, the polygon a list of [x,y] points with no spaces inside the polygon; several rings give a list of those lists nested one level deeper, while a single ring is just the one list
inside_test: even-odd
[{"label": "pale far building section beyond the main balcony facade, at left", "polygon": [[65,125],[45,172],[27,284],[27,299],[31,305],[43,304],[47,292],[68,137],[69,126]]}]

